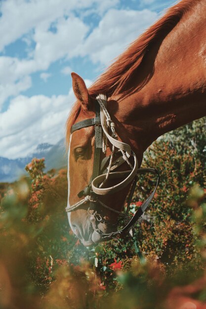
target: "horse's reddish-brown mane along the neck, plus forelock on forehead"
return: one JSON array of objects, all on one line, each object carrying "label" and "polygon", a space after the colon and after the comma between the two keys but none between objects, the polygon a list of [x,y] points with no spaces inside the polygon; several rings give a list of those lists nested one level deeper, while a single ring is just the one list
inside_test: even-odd
[{"label": "horse's reddish-brown mane along the neck, plus forelock on forehead", "polygon": [[[126,87],[130,77],[143,61],[152,44],[167,35],[180,21],[183,14],[200,0],[182,0],[169,8],[153,26],[136,39],[122,53],[116,61],[104,72],[88,89],[91,96],[104,93],[107,96],[115,94],[128,95],[131,89]],[[137,85],[138,87],[139,85]],[[135,89],[133,89],[134,91]],[[67,120],[67,142],[69,142],[70,129],[76,120],[81,106],[78,103],[73,107]]]}]

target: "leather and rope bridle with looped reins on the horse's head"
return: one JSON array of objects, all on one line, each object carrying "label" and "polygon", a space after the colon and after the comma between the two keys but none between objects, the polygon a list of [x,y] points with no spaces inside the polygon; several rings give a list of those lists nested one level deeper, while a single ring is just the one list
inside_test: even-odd
[{"label": "leather and rope bridle with looped reins on the horse's head", "polygon": [[[71,127],[71,134],[76,130],[80,130],[81,128],[85,128],[88,126],[94,126],[95,129],[95,150],[94,150],[94,164],[93,164],[93,172],[92,177],[90,179],[89,184],[78,193],[78,197],[81,198],[84,196],[82,200],[77,202],[72,206],[67,206],[66,211],[72,212],[81,208],[83,204],[89,201],[88,213],[89,215],[93,215],[95,218],[94,231],[102,236],[102,238],[112,238],[118,234],[122,234],[126,230],[129,230],[132,233],[133,225],[135,222],[142,216],[147,207],[149,206],[151,200],[153,199],[157,187],[160,182],[160,175],[157,169],[154,168],[138,168],[138,162],[136,155],[131,150],[130,146],[124,142],[118,140],[118,137],[115,132],[115,123],[111,120],[111,117],[106,108],[107,98],[103,94],[99,94],[96,97],[95,101],[95,118],[85,119],[80,122],[75,123]],[[101,154],[105,154],[108,141],[112,145],[112,153],[109,156],[104,157],[101,162]],[[115,151],[117,149],[117,151]],[[130,158],[133,157],[133,164],[130,162]],[[120,165],[123,163],[127,163],[129,166],[129,170],[126,171],[115,171]],[[101,164],[100,164],[101,163]],[[117,213],[119,216],[128,218],[129,206],[132,200],[132,196],[135,191],[136,183],[138,181],[138,174],[144,173],[152,173],[158,176],[157,183],[155,189],[150,194],[150,196],[144,201],[144,203],[138,208],[133,217],[129,220],[129,222],[124,226],[123,229],[111,232],[111,233],[103,233],[98,229],[98,224],[100,222],[107,223],[107,221],[102,218],[100,214],[102,206],[112,212]],[[105,184],[108,179],[119,179],[125,178],[123,181],[109,188],[105,188]],[[130,192],[127,200],[127,208],[126,213],[115,210],[106,204],[104,204],[100,199],[100,195],[110,195],[113,193],[120,192],[129,184],[131,185]]]}]

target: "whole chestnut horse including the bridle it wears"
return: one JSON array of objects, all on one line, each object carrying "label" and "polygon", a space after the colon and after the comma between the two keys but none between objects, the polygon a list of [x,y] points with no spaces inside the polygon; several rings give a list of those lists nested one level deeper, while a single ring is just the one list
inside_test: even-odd
[{"label": "whole chestnut horse including the bridle it wears", "polygon": [[206,115],[205,38],[206,1],[182,0],[88,89],[82,77],[71,74],[77,101],[66,124],[66,210],[84,246],[118,234],[117,218],[129,191],[131,199],[146,149]]}]

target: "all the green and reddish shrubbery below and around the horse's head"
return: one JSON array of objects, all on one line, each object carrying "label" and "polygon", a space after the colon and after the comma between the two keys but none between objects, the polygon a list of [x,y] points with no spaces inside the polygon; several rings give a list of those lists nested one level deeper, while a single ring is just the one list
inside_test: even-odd
[{"label": "all the green and reddish shrubbery below and around the horse's head", "polygon": [[[69,231],[66,170],[45,173],[33,159],[30,177],[1,184],[0,309],[206,308],[205,125],[166,134],[145,155],[161,183],[136,226],[142,264],[128,234],[84,248]],[[153,177],[140,177],[131,216]]]}]

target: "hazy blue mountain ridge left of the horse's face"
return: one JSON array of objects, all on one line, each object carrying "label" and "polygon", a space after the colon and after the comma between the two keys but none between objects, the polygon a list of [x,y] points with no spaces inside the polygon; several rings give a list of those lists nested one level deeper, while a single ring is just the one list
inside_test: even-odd
[{"label": "hazy blue mountain ridge left of the horse's face", "polygon": [[46,170],[51,168],[60,169],[67,166],[64,139],[56,145],[43,143],[37,146],[34,153],[24,158],[8,159],[0,156],[0,182],[13,182],[20,176],[26,175],[25,166],[36,158],[45,158]]}]

